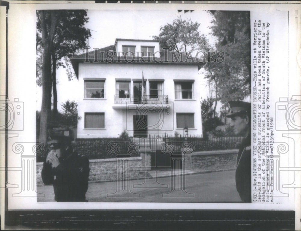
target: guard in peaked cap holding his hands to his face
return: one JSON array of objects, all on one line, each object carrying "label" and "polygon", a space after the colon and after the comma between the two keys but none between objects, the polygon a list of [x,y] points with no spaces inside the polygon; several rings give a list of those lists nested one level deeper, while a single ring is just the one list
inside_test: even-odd
[{"label": "guard in peaked cap holding his hands to his face", "polygon": [[53,184],[57,202],[85,202],[88,190],[89,160],[72,151],[67,136],[51,136],[50,152],[42,169],[44,184]]}]

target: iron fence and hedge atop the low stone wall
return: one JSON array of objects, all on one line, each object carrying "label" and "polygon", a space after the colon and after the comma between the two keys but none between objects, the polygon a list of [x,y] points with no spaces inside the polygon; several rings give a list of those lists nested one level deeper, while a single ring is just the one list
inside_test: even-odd
[{"label": "iron fence and hedge atop the low stone wall", "polygon": [[[194,152],[197,151],[214,151],[214,150],[227,150],[237,149],[244,137],[211,137],[201,138],[196,136],[190,137],[169,137],[164,136],[151,136],[147,138],[130,138],[129,140],[122,140],[120,138],[94,138],[94,139],[76,139],[72,143],[74,151],[77,151],[80,155],[85,155],[88,159],[106,159],[115,158],[116,155],[112,155],[112,152],[108,152],[108,145],[110,143],[116,143],[118,146],[118,154],[126,155],[128,152],[128,146],[130,144],[137,146],[141,151],[146,150],[148,152],[154,152],[161,149],[163,143],[179,142],[179,145],[185,141],[191,142],[194,145]],[[139,145],[139,147],[138,147]],[[179,149],[181,146],[178,147]],[[47,153],[49,152],[48,145],[45,147],[45,152],[42,155],[37,155],[37,161],[44,161]],[[140,153],[131,154],[131,157],[139,156]]]}]

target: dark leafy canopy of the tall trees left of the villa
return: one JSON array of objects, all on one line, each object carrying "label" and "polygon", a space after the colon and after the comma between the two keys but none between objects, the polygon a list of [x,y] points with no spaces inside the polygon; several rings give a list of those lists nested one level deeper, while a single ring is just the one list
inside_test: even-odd
[{"label": "dark leafy canopy of the tall trees left of the villa", "polygon": [[[52,52],[56,59],[56,68],[60,66],[67,69],[67,77],[72,80],[75,76],[70,68],[69,58],[78,53],[86,47],[87,38],[91,36],[90,30],[85,27],[89,21],[86,10],[56,10],[57,26],[54,35]],[[36,47],[37,47],[37,61],[36,74],[37,85],[42,86],[42,25],[40,20],[40,11],[37,11],[37,33],[36,33]],[[49,30],[51,25],[50,13],[45,14],[45,29]],[[64,57],[64,59],[62,59]],[[66,58],[68,57],[68,58]]]}]

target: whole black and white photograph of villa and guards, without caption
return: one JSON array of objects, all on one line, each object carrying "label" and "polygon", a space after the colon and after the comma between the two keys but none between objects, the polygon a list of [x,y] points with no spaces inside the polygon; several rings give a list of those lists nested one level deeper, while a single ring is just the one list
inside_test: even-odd
[{"label": "whole black and white photograph of villa and guards, without caption", "polygon": [[36,38],[38,201],[251,202],[250,11],[37,10]]}]

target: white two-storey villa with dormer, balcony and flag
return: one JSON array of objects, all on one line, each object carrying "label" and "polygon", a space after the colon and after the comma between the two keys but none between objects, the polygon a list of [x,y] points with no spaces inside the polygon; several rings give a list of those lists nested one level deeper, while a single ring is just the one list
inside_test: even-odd
[{"label": "white two-storey villa with dormer, balcony and flag", "polygon": [[184,130],[202,137],[193,59],[177,60],[156,40],[117,38],[70,60],[79,81],[78,138],[119,137],[124,129],[133,137],[183,136]]}]

